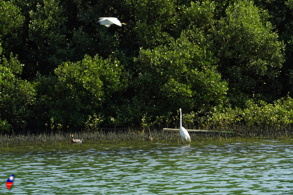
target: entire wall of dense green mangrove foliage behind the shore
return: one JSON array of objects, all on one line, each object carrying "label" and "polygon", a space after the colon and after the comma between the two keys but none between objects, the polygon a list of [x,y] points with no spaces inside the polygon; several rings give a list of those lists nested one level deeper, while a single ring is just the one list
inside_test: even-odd
[{"label": "entire wall of dense green mangrove foliage behind the shore", "polygon": [[0,128],[290,125],[292,5],[1,1]]}]

